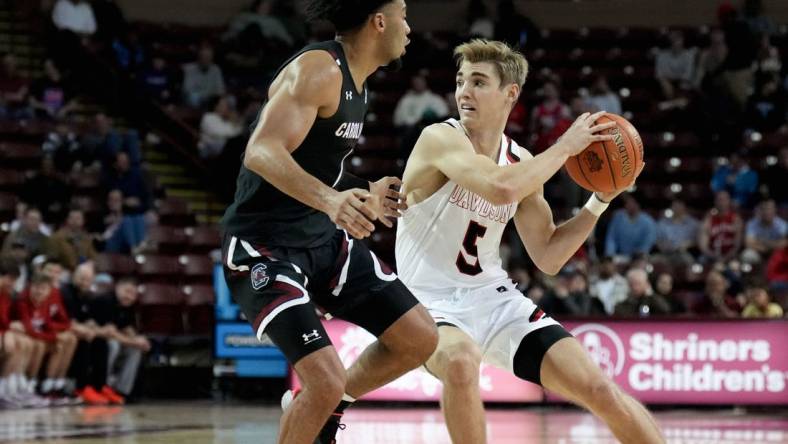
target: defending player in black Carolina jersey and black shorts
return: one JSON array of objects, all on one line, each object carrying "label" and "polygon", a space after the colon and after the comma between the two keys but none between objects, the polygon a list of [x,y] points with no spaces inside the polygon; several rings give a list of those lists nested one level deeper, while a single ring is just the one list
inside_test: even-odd
[{"label": "defending player in black Carolina jersey and black shorts", "polygon": [[[399,180],[369,183],[344,171],[364,125],[367,77],[398,62],[408,44],[405,2],[309,3],[337,37],[308,45],[275,74],[222,220],[233,298],[303,386],[281,419],[279,443],[289,444],[336,442],[344,407],[418,367],[437,345],[427,311],[359,241],[405,208],[389,189]],[[346,371],[316,309],[378,340]]]}]

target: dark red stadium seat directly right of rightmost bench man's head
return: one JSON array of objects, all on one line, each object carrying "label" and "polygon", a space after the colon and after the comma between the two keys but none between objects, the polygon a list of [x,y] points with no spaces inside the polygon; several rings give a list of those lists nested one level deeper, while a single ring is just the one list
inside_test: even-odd
[{"label": "dark red stadium seat directly right of rightmost bench man's head", "polygon": [[139,286],[140,330],[148,334],[183,333],[184,294],[175,285],[146,283]]}]

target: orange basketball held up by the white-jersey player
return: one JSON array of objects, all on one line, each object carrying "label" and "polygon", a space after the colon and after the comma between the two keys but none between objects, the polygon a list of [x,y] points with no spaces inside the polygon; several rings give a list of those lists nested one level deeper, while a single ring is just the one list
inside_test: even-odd
[{"label": "orange basketball held up by the white-jersey player", "polygon": [[594,142],[582,153],[566,161],[572,180],[588,191],[610,193],[629,188],[643,163],[643,140],[629,121],[617,114],[605,114],[596,124],[616,122],[604,131],[615,138]]}]

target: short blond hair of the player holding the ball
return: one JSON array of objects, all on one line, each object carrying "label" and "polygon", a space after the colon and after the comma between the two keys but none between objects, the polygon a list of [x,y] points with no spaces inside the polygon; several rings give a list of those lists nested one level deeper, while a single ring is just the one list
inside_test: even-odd
[{"label": "short blond hair of the player holding the ball", "polygon": [[454,58],[458,68],[466,61],[492,63],[501,78],[501,87],[516,83],[522,89],[528,76],[528,61],[525,56],[497,40],[473,39],[463,43],[454,48]]}]

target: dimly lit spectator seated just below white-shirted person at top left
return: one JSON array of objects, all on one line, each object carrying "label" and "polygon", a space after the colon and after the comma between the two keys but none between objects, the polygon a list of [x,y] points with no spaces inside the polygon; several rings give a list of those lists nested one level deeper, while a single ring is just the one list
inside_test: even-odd
[{"label": "dimly lit spectator seated just below white-shirted person at top left", "polygon": [[51,59],[44,61],[44,77],[33,82],[30,88],[30,105],[37,117],[53,120],[67,117],[77,107],[71,86]]}]

